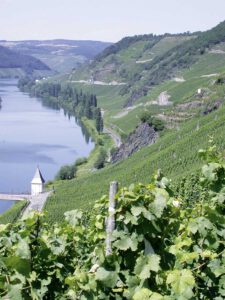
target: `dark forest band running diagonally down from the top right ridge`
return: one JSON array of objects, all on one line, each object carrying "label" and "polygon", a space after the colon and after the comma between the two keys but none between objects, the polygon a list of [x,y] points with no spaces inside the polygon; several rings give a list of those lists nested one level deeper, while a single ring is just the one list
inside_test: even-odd
[{"label": "dark forest band running diagonally down from the top right ridge", "polygon": [[[125,106],[141,96],[147,95],[153,86],[175,77],[179,70],[190,67],[197,62],[201,55],[224,41],[225,22],[222,22],[211,30],[196,33],[196,37],[193,39],[187,40],[147,62],[144,66],[147,76],[144,80],[139,78],[140,87],[132,91]],[[124,87],[122,93],[128,93],[131,87],[132,82]]]}]

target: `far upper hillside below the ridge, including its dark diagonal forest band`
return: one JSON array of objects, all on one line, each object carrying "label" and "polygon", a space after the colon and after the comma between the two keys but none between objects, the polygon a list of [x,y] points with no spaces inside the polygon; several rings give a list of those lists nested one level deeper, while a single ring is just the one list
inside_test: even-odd
[{"label": "far upper hillside below the ridge, including its dark diagonal forest band", "polygon": [[121,85],[124,106],[131,106],[224,41],[225,22],[193,34],[126,37],[106,48],[91,64],[74,71],[70,80]]}]

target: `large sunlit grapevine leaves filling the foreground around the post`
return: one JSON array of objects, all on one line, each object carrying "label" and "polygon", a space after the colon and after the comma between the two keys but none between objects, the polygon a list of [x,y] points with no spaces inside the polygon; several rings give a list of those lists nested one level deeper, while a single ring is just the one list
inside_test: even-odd
[{"label": "large sunlit grapevine leaves filling the foreground around the post", "polygon": [[107,197],[90,213],[65,213],[61,225],[35,212],[1,225],[1,297],[223,299],[225,163],[216,153],[214,146],[200,151],[207,161],[196,176],[206,193],[192,207],[160,172],[147,185],[121,189],[108,256]]}]

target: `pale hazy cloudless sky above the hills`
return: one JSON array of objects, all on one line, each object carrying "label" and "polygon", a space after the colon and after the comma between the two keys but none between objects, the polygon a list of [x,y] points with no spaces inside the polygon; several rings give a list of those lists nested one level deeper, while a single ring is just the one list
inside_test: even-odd
[{"label": "pale hazy cloudless sky above the hills", "polygon": [[118,41],[143,33],[206,30],[225,0],[0,0],[0,39]]}]

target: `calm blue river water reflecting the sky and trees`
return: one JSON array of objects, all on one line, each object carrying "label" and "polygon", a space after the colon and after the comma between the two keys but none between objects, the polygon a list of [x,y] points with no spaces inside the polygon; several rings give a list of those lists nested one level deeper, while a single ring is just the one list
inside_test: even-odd
[{"label": "calm blue river water reflecting the sky and trees", "polygon": [[[30,193],[37,165],[47,181],[94,148],[74,117],[20,92],[16,80],[0,79],[0,96],[0,193]],[[0,200],[0,213],[12,203]]]}]

